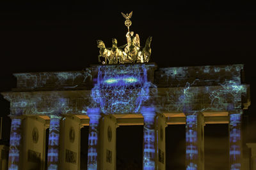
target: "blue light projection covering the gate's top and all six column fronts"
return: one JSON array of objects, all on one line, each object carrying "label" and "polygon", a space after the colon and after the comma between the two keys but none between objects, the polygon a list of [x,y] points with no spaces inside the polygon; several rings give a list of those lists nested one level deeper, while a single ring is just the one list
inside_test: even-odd
[{"label": "blue light projection covering the gate's top and all six column fronts", "polygon": [[[230,104],[232,104],[232,110],[237,110],[243,108],[243,95],[244,99],[247,99],[248,103],[250,102],[250,97],[247,95],[248,85],[241,84],[243,65],[169,67],[154,71],[155,68],[154,64],[120,64],[93,66],[84,70],[83,73],[79,71],[15,74],[17,77],[16,90],[21,89],[21,91],[4,93],[4,98],[11,102],[13,116],[19,115],[20,110],[24,115],[49,115],[56,111],[63,114],[88,113],[91,115],[88,169],[95,169],[95,167],[99,169],[96,148],[99,113],[140,113],[140,110],[145,110],[145,108],[141,108],[142,106],[150,106],[152,103],[157,112],[227,111],[230,110]],[[150,83],[147,78],[150,78],[150,81],[151,78],[154,79],[157,86]],[[93,83],[95,83],[94,87],[90,91]],[[47,92],[46,89],[51,91]],[[79,91],[76,92],[76,90]],[[86,110],[86,108],[89,109]],[[153,161],[155,150],[152,143],[157,141],[153,128],[154,123],[152,123],[154,122],[152,116],[154,111],[148,109],[144,112],[143,164],[145,169],[152,169],[155,166]],[[196,145],[196,143],[200,143],[200,131],[196,129],[196,116],[198,115],[191,114],[186,117],[186,157],[188,160],[186,168],[200,169],[201,164],[195,162],[201,157],[201,148]],[[240,119],[241,115],[230,115],[231,169],[241,167]],[[57,166],[56,162],[58,161],[57,146],[60,124],[58,117],[56,120],[53,117],[51,124],[48,159],[49,162],[52,161],[52,164],[48,168],[56,169],[57,167],[54,166]],[[20,140],[19,133],[15,134],[15,131],[13,130],[11,133],[11,141]],[[13,146],[15,145],[13,144]],[[17,148],[19,145],[11,148],[10,160],[19,160]],[[14,162],[10,168],[15,169],[17,164]]]}]

